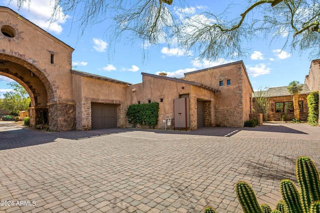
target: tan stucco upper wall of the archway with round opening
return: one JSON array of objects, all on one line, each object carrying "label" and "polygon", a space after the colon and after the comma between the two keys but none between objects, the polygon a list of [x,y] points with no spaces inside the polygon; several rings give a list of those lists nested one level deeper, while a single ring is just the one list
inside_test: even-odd
[{"label": "tan stucco upper wall of the archway with round opening", "polygon": [[[22,66],[40,70],[44,74],[42,78],[51,83],[46,85],[45,79],[41,79],[45,87],[53,90],[53,94],[49,96],[54,95],[54,98],[48,102],[72,101],[72,79],[69,72],[73,49],[6,7],[0,7],[0,26],[2,25],[13,27],[16,36],[10,38],[0,33],[0,57],[6,55],[19,58],[22,60],[17,61]],[[54,64],[51,64],[51,54],[54,54]]]}]

